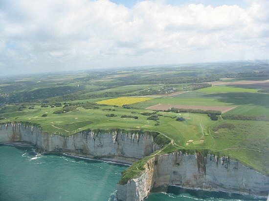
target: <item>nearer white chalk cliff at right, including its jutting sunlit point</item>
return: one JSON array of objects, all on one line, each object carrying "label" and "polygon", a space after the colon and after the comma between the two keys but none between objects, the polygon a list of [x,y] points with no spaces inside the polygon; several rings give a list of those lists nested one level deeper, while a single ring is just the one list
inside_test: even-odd
[{"label": "nearer white chalk cliff at right, including its jutting sunlit point", "polygon": [[118,184],[119,201],[141,201],[151,190],[165,191],[169,185],[224,190],[267,196],[269,177],[225,157],[164,154],[151,158],[141,176]]}]

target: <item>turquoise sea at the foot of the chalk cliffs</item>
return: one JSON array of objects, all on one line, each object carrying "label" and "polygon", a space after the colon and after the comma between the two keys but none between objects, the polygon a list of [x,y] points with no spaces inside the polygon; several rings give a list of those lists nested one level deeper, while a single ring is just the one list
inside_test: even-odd
[{"label": "turquoise sea at the foot of the chalk cliffs", "polygon": [[[0,201],[113,201],[126,166],[63,155],[36,157],[32,147],[0,146]],[[145,201],[245,201],[221,192],[169,187]]]}]

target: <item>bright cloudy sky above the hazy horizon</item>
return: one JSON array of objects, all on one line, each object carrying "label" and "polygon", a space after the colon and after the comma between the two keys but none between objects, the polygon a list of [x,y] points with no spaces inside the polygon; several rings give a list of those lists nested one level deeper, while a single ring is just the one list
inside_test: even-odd
[{"label": "bright cloudy sky above the hazy horizon", "polygon": [[0,74],[269,59],[269,0],[0,0]]}]

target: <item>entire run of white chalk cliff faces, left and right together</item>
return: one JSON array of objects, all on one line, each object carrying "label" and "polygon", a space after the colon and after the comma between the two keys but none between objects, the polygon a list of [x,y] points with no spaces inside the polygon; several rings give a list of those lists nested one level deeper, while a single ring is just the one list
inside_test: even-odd
[{"label": "entire run of white chalk cliff faces, left and right together", "polygon": [[[43,133],[21,123],[0,125],[0,143],[26,142],[43,151],[82,154],[110,161],[132,163],[161,148],[151,135],[135,132],[82,131],[69,137]],[[150,191],[165,191],[169,185],[225,190],[267,196],[269,177],[225,157],[196,153],[156,155],[138,177],[117,186],[119,201],[141,201]]]}]

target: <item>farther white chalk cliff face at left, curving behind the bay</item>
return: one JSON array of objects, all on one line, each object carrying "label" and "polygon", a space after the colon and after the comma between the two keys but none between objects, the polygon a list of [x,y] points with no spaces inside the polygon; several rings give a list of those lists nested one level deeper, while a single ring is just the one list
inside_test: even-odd
[{"label": "farther white chalk cliff face at left, curving behind the bay", "polygon": [[47,152],[68,152],[116,161],[137,161],[160,146],[150,135],[123,132],[94,133],[82,131],[72,136],[50,135],[34,126],[21,123],[0,126],[0,142],[26,142]]}]

